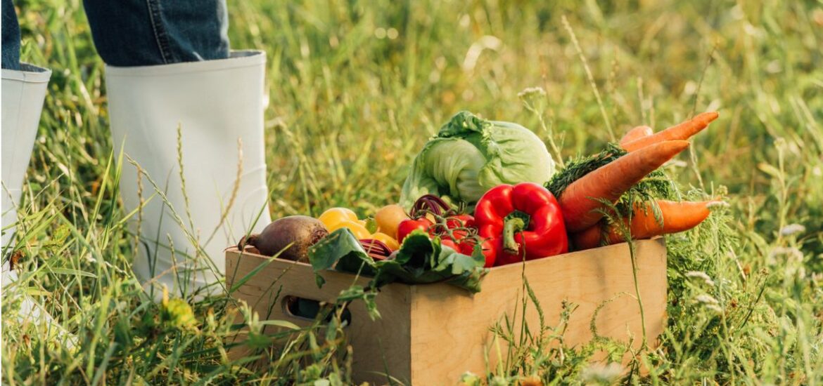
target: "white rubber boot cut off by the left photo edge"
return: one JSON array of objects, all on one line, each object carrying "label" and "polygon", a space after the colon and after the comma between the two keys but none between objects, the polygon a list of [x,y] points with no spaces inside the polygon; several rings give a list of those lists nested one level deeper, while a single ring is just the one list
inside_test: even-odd
[{"label": "white rubber boot cut off by the left photo edge", "polygon": [[[2,70],[2,287],[17,279],[11,269],[8,254],[17,223],[17,204],[23,187],[23,177],[29,167],[35,145],[40,113],[49,85],[51,71],[21,63],[22,71]],[[5,291],[4,291],[5,292]],[[4,294],[6,296],[6,294]],[[40,319],[40,309],[31,298],[21,299],[20,316]],[[49,319],[48,314],[45,318]]]}]

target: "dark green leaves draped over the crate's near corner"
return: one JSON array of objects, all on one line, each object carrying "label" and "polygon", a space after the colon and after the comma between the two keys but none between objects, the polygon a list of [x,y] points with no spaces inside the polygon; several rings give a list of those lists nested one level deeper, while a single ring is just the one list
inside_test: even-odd
[{"label": "dark green leaves draped over the crate's near corner", "polygon": [[412,232],[400,250],[389,260],[372,260],[356,237],[346,228],[337,229],[309,249],[318,286],[325,283],[321,272],[326,269],[359,273],[372,277],[369,287],[388,283],[449,283],[470,292],[480,292],[481,280],[488,272],[486,259],[479,248],[471,256],[440,245],[422,231]]}]

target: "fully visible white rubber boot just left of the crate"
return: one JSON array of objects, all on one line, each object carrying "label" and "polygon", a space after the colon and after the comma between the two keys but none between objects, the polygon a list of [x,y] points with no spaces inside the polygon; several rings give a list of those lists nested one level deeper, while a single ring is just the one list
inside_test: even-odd
[{"label": "fully visible white rubber boot just left of the crate", "polygon": [[156,300],[164,285],[176,296],[223,291],[226,247],[270,222],[265,62],[262,52],[239,51],[223,60],[106,67],[114,148],[122,145],[142,169],[138,182],[123,157],[125,209],[144,203],[130,218],[140,241],[133,269]]}]

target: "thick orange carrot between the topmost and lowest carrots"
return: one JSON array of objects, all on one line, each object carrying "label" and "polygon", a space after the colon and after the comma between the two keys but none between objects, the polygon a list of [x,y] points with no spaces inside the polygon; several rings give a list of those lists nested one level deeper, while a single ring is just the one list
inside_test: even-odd
[{"label": "thick orange carrot between the topmost and lowest carrots", "polygon": [[602,200],[616,202],[631,186],[688,146],[686,140],[667,140],[649,145],[572,182],[560,195],[566,230],[579,232],[600,221],[603,215],[597,209],[607,208]]}]

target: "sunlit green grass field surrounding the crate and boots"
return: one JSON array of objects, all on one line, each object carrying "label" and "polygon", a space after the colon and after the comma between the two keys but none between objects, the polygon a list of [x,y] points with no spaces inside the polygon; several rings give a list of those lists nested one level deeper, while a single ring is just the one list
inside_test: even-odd
[{"label": "sunlit green grass field surrounding the crate and boots", "polygon": [[[611,132],[718,110],[672,177],[728,192],[730,206],[670,238],[663,348],[639,355],[649,375],[624,380],[823,383],[823,5],[575,3],[230,2],[232,46],[268,54],[272,216],[337,205],[370,214],[398,200],[417,149],[461,109],[532,127],[565,159],[600,149]],[[20,213],[28,269],[3,291],[3,383],[349,383],[339,326],[293,333],[287,350],[258,350],[267,365],[244,365],[222,344],[236,327],[229,299],[189,309],[143,294],[81,2],[16,5],[22,57],[53,77]],[[545,104],[523,107],[518,93],[535,86]],[[803,227],[788,232],[793,224]],[[73,348],[8,317],[23,291],[76,337]],[[588,348],[561,352],[550,340],[516,347],[532,361],[479,376],[619,376],[589,363]]]}]

